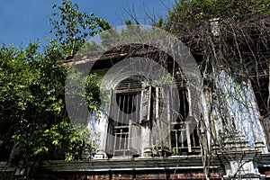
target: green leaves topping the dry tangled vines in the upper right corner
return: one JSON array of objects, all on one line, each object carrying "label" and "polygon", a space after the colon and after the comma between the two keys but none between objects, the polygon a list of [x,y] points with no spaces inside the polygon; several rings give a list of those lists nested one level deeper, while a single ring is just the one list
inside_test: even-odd
[{"label": "green leaves topping the dry tangled vines in the upper right corner", "polygon": [[168,12],[169,22],[202,22],[212,18],[243,21],[270,13],[268,0],[181,0]]}]

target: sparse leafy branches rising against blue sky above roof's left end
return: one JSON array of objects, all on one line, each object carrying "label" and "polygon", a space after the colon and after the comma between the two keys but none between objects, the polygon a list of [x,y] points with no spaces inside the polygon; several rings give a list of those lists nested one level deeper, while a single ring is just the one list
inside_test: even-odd
[{"label": "sparse leafy branches rising against blue sky above roof's left end", "polygon": [[53,25],[50,32],[55,34],[66,57],[74,57],[85,38],[111,28],[108,22],[94,14],[79,12],[78,4],[71,1],[63,0],[61,5],[54,4],[53,8],[59,12],[49,18],[49,23]]}]

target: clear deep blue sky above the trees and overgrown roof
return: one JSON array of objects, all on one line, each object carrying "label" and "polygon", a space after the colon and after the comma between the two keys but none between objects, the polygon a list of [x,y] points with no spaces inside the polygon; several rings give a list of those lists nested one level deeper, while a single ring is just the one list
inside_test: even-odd
[{"label": "clear deep blue sky above the trees and overgrown roof", "polygon": [[[0,42],[19,47],[29,40],[41,40],[49,36],[48,15],[52,14],[52,4],[61,0],[0,0]],[[81,12],[94,13],[109,21],[112,26],[123,25],[129,18],[125,10],[135,12],[141,22],[148,14],[166,15],[175,0],[73,0],[79,4]]]}]

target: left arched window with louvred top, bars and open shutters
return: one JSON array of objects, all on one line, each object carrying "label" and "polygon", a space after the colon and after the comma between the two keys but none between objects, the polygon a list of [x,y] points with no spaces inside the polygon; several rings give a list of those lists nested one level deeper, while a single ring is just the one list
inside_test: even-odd
[{"label": "left arched window with louvred top, bars and open shutters", "polygon": [[106,151],[112,156],[139,154],[139,121],[148,82],[141,76],[123,79],[111,93]]}]

